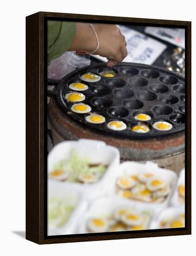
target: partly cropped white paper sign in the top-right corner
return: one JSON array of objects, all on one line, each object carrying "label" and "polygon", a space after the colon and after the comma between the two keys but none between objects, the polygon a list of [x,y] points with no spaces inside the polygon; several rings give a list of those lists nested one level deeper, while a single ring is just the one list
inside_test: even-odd
[{"label": "partly cropped white paper sign in the top-right corner", "polygon": [[185,47],[185,30],[182,28],[145,27],[145,33],[154,35],[183,49]]}]

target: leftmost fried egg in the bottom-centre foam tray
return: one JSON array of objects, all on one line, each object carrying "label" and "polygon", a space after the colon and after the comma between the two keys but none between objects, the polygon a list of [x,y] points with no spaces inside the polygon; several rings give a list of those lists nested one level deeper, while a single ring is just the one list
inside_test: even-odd
[{"label": "leftmost fried egg in the bottom-centre foam tray", "polygon": [[87,222],[87,228],[91,232],[105,232],[109,229],[108,222],[105,218],[92,218]]}]

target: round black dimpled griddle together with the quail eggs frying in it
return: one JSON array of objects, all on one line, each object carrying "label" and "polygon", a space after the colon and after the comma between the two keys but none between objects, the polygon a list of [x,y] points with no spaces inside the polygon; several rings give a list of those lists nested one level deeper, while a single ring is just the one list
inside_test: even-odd
[{"label": "round black dimpled griddle together with the quail eggs frying in it", "polygon": [[85,127],[128,138],[183,132],[185,82],[150,65],[80,68],[58,84],[60,107]]}]

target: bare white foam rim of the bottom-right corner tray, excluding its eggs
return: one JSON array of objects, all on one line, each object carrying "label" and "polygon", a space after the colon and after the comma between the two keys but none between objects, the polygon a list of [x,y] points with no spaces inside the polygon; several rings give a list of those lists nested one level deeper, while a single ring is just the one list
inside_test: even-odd
[{"label": "bare white foam rim of the bottom-right corner tray, excluding its eggs", "polygon": [[160,222],[164,219],[170,219],[171,217],[177,217],[184,213],[185,208],[183,206],[168,207],[163,210],[157,217],[155,217],[150,223],[150,229],[160,229]]}]

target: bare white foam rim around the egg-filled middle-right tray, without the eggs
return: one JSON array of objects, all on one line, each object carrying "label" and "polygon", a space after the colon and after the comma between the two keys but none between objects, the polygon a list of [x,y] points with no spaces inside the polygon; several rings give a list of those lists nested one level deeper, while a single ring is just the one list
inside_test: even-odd
[{"label": "bare white foam rim around the egg-filled middle-right tray, without the eggs", "polygon": [[[131,161],[126,161],[120,164],[119,167],[119,172],[118,175],[116,176],[116,179],[120,175],[138,175],[139,173],[143,172],[151,172],[152,174],[160,177],[166,182],[170,182],[171,184],[171,192],[167,196],[164,202],[161,203],[156,203],[156,202],[142,202],[143,204],[147,205],[154,205],[156,208],[156,213],[159,213],[161,210],[166,208],[170,202],[170,197],[174,192],[174,189],[176,187],[176,182],[177,182],[177,175],[174,171],[168,170],[168,169],[163,169],[159,168],[157,163],[154,162],[146,162],[146,163],[138,163],[138,162],[131,162]],[[114,185],[112,186],[111,189],[111,194],[112,195],[117,195],[116,193],[116,179],[114,182]],[[119,195],[117,195],[119,196]],[[120,197],[120,196],[119,196]],[[131,200],[131,199],[125,199],[126,201],[136,201],[136,200]]]}]

